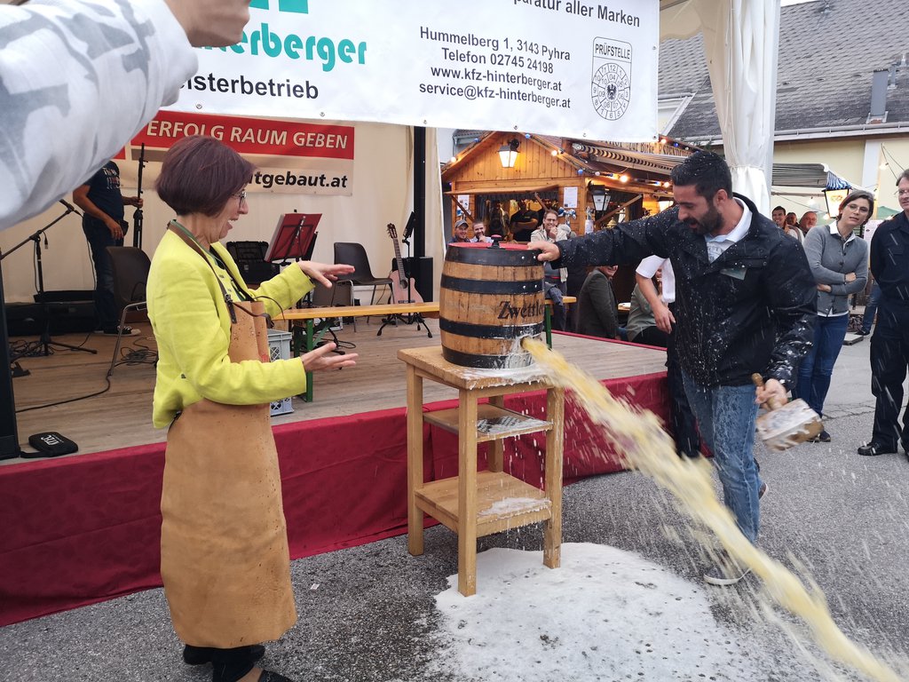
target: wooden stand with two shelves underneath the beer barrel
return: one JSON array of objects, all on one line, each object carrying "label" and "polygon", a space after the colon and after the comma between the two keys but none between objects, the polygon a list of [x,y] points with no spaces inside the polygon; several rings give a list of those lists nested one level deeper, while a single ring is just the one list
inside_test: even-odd
[{"label": "wooden stand with two shelves underneath the beer barrel", "polygon": [[[398,351],[407,365],[407,548],[423,554],[424,514],[457,534],[458,591],[476,594],[476,538],[508,528],[544,522],[543,563],[559,567],[562,546],[562,442],[564,389],[540,376],[509,383],[507,376],[483,376],[488,370],[453,365],[432,346]],[[525,372],[526,370],[516,370]],[[424,413],[423,380],[458,389],[455,409]],[[504,408],[504,396],[546,389],[547,421]],[[488,405],[477,405],[488,397]],[[424,483],[423,425],[435,424],[458,434],[458,476]],[[503,471],[502,440],[546,433],[545,490]],[[476,446],[491,442],[489,468],[476,470]]]}]

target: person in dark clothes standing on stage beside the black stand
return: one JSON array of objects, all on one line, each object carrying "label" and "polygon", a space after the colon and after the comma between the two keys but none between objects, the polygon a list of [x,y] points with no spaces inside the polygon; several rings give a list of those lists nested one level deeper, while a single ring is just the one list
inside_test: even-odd
[{"label": "person in dark clothes standing on stage beside the black stand", "polygon": [[[95,312],[98,329],[103,334],[116,336],[119,311],[114,298],[114,266],[107,255],[108,246],[123,246],[123,238],[129,225],[124,218],[124,206],[142,207],[138,196],[123,196],[120,193],[120,168],[108,161],[94,176],[73,190],[73,203],[84,211],[82,231],[92,251],[95,264]],[[126,336],[138,334],[124,326]]]}]

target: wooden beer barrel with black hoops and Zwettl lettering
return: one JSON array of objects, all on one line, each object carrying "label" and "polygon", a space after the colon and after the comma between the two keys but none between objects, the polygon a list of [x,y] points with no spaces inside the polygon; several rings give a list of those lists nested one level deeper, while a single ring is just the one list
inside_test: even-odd
[{"label": "wooden beer barrel with black hoops and Zwettl lettering", "polygon": [[526,336],[544,334],[543,264],[524,245],[452,244],[439,296],[442,356],[455,365],[524,367]]}]

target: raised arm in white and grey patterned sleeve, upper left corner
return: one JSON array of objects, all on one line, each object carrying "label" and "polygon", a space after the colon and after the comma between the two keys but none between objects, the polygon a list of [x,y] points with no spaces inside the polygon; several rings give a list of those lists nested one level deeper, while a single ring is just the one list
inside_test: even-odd
[{"label": "raised arm in white and grey patterned sleeve, upper left corner", "polygon": [[0,229],[41,213],[115,155],[198,66],[238,43],[249,0],[0,5]]}]

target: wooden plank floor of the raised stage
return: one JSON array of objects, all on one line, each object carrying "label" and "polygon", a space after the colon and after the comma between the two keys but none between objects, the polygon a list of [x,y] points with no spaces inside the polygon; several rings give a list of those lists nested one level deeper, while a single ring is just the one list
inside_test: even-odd
[{"label": "wooden plank floor of the raised stage", "polygon": [[[433,338],[428,338],[425,331],[418,331],[415,326],[405,325],[386,326],[382,336],[376,336],[379,324],[379,320],[373,318],[368,325],[365,319],[359,320],[357,331],[353,326],[345,326],[338,337],[356,345],[352,352],[360,354],[357,366],[342,372],[316,374],[314,402],[305,403],[294,398],[294,412],[273,417],[273,424],[405,406],[405,364],[395,354],[399,348],[439,344],[438,320],[427,320]],[[142,334],[125,339],[124,346],[155,348],[151,326],[147,323],[134,326]],[[15,342],[19,338],[12,340]],[[55,340],[78,346],[85,340],[85,335],[56,336]],[[104,390],[114,345],[113,336],[91,335],[85,341],[85,347],[95,348],[97,355],[64,349],[51,356],[21,358],[19,364],[31,374],[13,381],[16,409],[56,403]],[[553,346],[599,379],[664,370],[665,353],[652,348],[560,334],[553,335]],[[166,436],[165,429],[155,429],[151,423],[154,386],[153,366],[117,366],[110,390],[100,396],[17,414],[20,443],[26,451],[32,450],[28,446],[28,436],[56,431],[78,444],[79,453],[71,456],[79,456],[162,442]],[[435,382],[425,383],[426,402],[456,397],[454,389]],[[0,465],[9,466],[24,461],[33,460],[14,458],[0,462]]]}]

